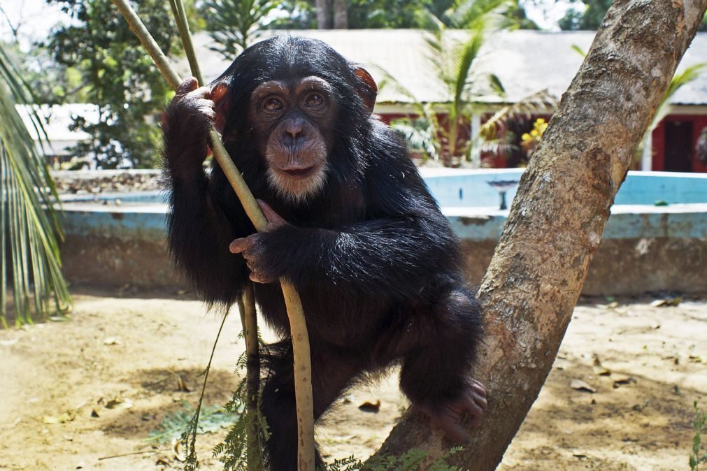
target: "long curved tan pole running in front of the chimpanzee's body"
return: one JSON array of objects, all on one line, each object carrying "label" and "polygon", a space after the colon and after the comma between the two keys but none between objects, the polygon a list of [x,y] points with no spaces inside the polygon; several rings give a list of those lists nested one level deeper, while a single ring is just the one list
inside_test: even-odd
[{"label": "long curved tan pole running in front of the chimpanzee's body", "polygon": [[[176,11],[183,13],[184,7],[180,8],[181,0],[174,0]],[[165,76],[170,86],[177,90],[182,82],[177,72],[169,63],[167,57],[160,50],[160,47],[155,42],[153,37],[148,32],[145,25],[137,16],[133,8],[128,3],[128,0],[112,0],[113,4],[118,8],[122,16],[127,20],[130,28],[135,32],[140,42],[147,49],[148,54],[152,56],[156,66]],[[180,18],[182,18],[180,20]],[[177,25],[186,24],[184,16],[181,14],[177,19]],[[192,52],[192,58],[189,59],[190,64],[195,63],[196,59],[193,55],[194,47],[191,45],[191,37],[188,28],[185,34],[182,34],[182,40],[185,40],[185,50],[188,53]],[[189,44],[189,46],[187,46]],[[198,71],[196,72],[201,75]],[[199,84],[203,84],[203,78],[196,76]],[[214,152],[214,158],[218,165],[223,169],[223,173],[233,186],[240,203],[245,209],[245,213],[250,217],[255,229],[262,232],[267,228],[267,220],[260,210],[257,201],[253,197],[250,189],[248,189],[243,177],[238,169],[235,168],[233,160],[231,160],[226,148],[221,143],[221,136],[211,126],[209,130],[209,138],[211,141],[211,150]],[[312,361],[309,345],[309,334],[307,332],[307,324],[305,321],[302,302],[298,292],[291,283],[284,279],[280,279],[285,304],[287,306],[287,314],[290,320],[290,333],[292,337],[293,356],[294,356],[294,381],[295,381],[295,397],[297,404],[297,423],[298,423],[298,471],[315,471],[315,446],[314,446],[314,407],[312,405]],[[256,330],[257,331],[257,330]]]}]

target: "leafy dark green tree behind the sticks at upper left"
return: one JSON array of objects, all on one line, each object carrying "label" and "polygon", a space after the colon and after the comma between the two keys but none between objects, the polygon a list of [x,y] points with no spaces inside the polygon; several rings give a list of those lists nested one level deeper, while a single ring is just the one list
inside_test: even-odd
[{"label": "leafy dark green tree behind the sticks at upper left", "polygon": [[[71,151],[93,157],[102,168],[155,167],[160,143],[158,117],[171,90],[150,56],[109,1],[48,0],[76,23],[55,29],[45,47],[59,66],[73,68],[81,78],[64,101],[85,100],[98,107],[98,120],[76,117],[72,129],[90,138]],[[136,4],[160,47],[176,54],[178,35],[170,22],[168,2]]]}]

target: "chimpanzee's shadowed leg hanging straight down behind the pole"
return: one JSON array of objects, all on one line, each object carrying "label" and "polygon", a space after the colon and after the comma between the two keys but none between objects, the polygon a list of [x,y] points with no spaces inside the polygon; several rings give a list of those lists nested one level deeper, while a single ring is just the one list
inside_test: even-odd
[{"label": "chimpanzee's shadowed leg hanging straight down behind the pole", "polygon": [[[297,414],[293,379],[292,345],[289,340],[269,345],[266,362],[270,374],[262,394],[261,412],[270,438],[266,462],[271,471],[297,470]],[[312,394],[315,420],[327,410],[358,369],[346,359],[312,346]],[[317,469],[322,459],[317,451]]]}]

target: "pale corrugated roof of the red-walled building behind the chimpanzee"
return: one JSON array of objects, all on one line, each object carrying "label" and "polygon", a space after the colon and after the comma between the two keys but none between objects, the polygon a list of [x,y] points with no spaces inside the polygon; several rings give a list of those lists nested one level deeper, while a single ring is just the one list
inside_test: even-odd
[{"label": "pale corrugated roof of the red-walled building behind the chimpanzee", "polygon": [[[267,31],[264,37],[275,34],[292,34],[314,37],[330,44],[350,61],[368,68],[380,83],[385,72],[390,73],[404,88],[421,102],[446,102],[449,100],[433,66],[429,62],[429,49],[420,30],[296,30]],[[451,31],[450,37],[460,37],[464,32]],[[477,67],[479,71],[495,73],[506,89],[505,101],[515,102],[539,90],[560,97],[568,88],[583,60],[572,49],[573,45],[588,51],[595,32],[542,32],[515,30],[499,32],[489,37],[481,49]],[[209,49],[211,38],[199,33],[194,40],[199,54],[201,70],[206,80],[216,78],[229,63],[221,54]],[[686,52],[678,70],[684,66],[707,62],[707,33],[698,33]],[[188,74],[186,61],[180,71]],[[378,102],[406,103],[410,98],[392,86],[383,87]],[[489,102],[498,101],[489,98]],[[675,105],[707,105],[707,73],[685,85],[672,98]]]}]

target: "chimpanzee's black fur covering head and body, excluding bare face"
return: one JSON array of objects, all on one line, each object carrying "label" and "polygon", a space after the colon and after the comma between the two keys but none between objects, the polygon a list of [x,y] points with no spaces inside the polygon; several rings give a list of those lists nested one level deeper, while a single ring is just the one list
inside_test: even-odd
[{"label": "chimpanzee's black fur covering head and body, excluding bare face", "polygon": [[[250,138],[248,100],[274,78],[320,76],[334,88],[334,149],[325,189],[305,203],[279,198]],[[320,41],[277,37],[243,52],[217,81],[229,86],[224,143],[256,198],[291,225],[264,234],[262,256],[300,292],[310,333],[319,417],[356,377],[402,365],[413,403],[443,405],[468,387],[481,337],[474,292],[462,275],[457,238],[404,144],[363,105],[354,67]],[[230,306],[248,269],[228,244],[255,232],[223,172],[207,176],[189,157],[204,153],[204,129],[168,109],[170,251],[206,302]],[[203,155],[201,156],[203,157]],[[187,163],[182,163],[187,162]],[[278,283],[255,284],[266,321],[283,340],[271,347],[263,412],[272,470],[296,470],[296,416],[288,318]]]}]

